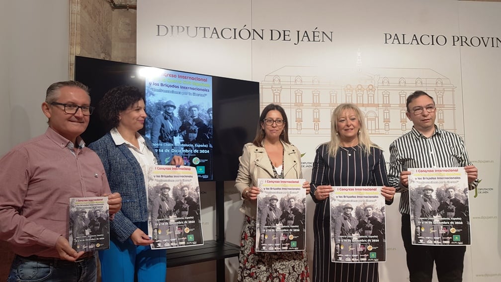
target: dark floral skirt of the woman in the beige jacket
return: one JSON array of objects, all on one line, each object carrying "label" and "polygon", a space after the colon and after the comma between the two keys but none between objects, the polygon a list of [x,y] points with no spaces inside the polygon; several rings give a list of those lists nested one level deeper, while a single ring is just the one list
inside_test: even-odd
[{"label": "dark floral skirt of the woman in the beige jacket", "polygon": [[256,220],[245,216],[237,281],[310,281],[306,251],[256,252]]}]

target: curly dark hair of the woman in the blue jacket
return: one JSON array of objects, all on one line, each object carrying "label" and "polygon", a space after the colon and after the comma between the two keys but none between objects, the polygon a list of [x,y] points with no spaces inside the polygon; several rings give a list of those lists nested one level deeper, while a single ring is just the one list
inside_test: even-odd
[{"label": "curly dark hair of the woman in the blue jacket", "polygon": [[144,94],[137,87],[122,85],[112,88],[99,102],[99,116],[109,129],[116,127],[120,111],[128,109],[141,99],[145,100]]}]

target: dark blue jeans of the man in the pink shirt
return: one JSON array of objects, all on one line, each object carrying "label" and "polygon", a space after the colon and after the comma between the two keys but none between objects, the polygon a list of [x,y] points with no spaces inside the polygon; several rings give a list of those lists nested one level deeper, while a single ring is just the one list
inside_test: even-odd
[{"label": "dark blue jeans of the man in the pink shirt", "polygon": [[16,255],[12,262],[8,282],[95,282],[97,258],[90,257],[71,262],[59,258]]}]

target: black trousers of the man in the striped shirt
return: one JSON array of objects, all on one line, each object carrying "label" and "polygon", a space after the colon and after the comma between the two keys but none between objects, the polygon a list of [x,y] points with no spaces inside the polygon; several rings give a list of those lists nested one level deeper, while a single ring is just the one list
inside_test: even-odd
[{"label": "black trousers of the man in the striped shirt", "polygon": [[410,215],[402,214],[402,240],[407,253],[407,268],[411,282],[431,282],[433,262],[440,282],[461,282],[465,246],[413,245]]}]

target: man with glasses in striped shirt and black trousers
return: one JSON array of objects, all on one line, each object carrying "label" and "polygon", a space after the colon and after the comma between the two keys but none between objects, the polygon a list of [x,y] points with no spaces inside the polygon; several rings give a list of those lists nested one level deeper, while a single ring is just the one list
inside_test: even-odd
[{"label": "man with glasses in striped shirt and black trousers", "polygon": [[407,252],[407,268],[411,282],[431,282],[433,263],[440,282],[462,281],[465,246],[412,245],[409,210],[409,168],[464,167],[468,175],[468,189],[478,184],[477,169],[468,160],[463,139],[456,133],[441,130],[435,125],[435,102],[423,91],[407,97],[407,117],[412,121],[411,131],[390,145],[390,185],[400,196],[402,240]]}]

